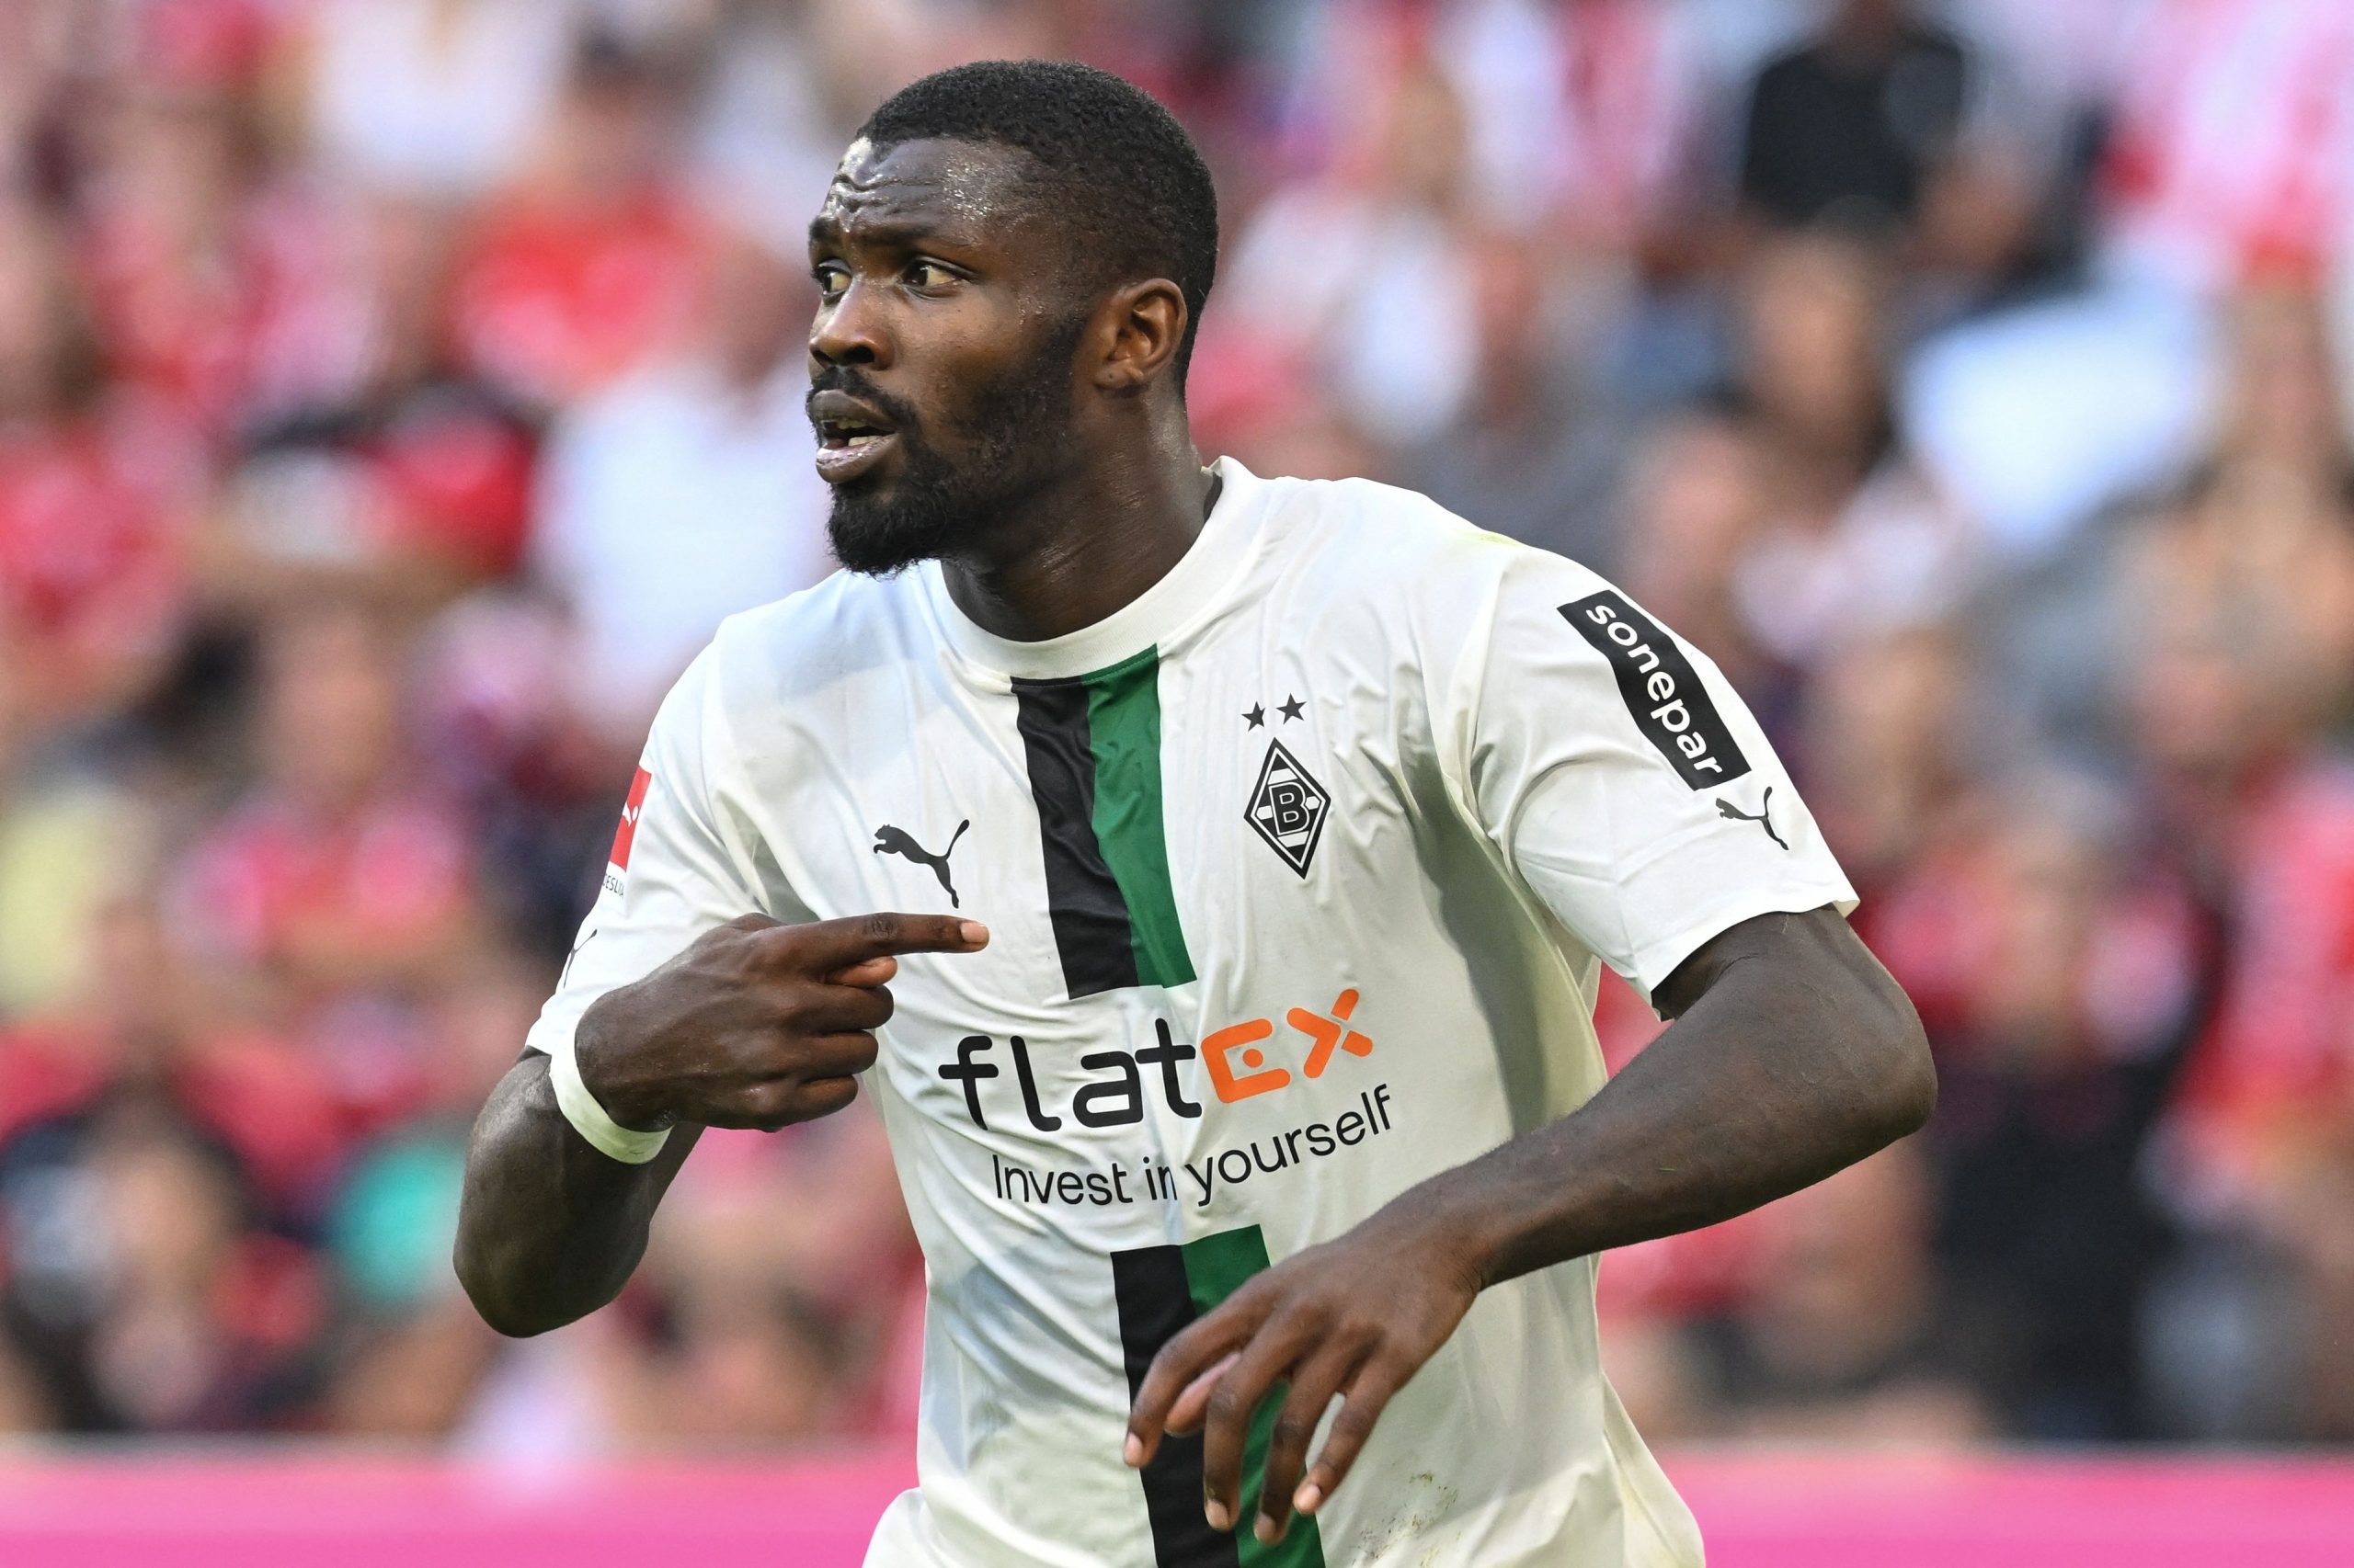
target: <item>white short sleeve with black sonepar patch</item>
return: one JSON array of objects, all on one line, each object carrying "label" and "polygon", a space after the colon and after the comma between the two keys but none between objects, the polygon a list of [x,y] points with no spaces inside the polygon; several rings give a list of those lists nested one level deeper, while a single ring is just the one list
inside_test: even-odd
[{"label": "white short sleeve with black sonepar patch", "polygon": [[1645,998],[1740,921],[1855,906],[1723,673],[1594,572],[1514,546],[1457,671],[1478,826]]}]

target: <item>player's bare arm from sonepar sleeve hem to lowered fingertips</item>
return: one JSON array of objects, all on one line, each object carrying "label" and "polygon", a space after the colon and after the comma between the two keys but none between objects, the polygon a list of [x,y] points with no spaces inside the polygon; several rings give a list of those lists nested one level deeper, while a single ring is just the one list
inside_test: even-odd
[{"label": "player's bare arm from sonepar sleeve hem to lowered fingertips", "polygon": [[1580,1111],[1422,1182],[1177,1335],[1137,1391],[1130,1462],[1203,1427],[1205,1507],[1231,1528],[1250,1415],[1288,1382],[1252,1526],[1274,1540],[1332,1495],[1485,1285],[1730,1220],[1904,1137],[1937,1099],[1911,1003],[1834,909],[1742,921],[1657,1003],[1676,1022]]}]

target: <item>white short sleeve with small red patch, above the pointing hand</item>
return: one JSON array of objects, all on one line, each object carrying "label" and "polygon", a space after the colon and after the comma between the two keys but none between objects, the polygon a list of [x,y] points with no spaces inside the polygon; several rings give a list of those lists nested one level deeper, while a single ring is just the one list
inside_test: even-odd
[{"label": "white short sleeve with small red patch, above the pointing hand", "polygon": [[570,1052],[581,1012],[605,991],[643,979],[706,930],[772,913],[746,855],[720,829],[711,779],[713,711],[706,650],[661,702],[631,779],[588,918],[581,921],[556,996],[525,1041]]}]

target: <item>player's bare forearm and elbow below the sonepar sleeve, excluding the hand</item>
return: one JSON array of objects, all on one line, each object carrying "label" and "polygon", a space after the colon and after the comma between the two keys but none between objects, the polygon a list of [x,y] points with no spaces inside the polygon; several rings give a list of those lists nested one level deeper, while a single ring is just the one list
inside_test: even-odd
[{"label": "player's bare forearm and elbow below the sonepar sleeve, excluding the hand", "polygon": [[1681,1017],[1575,1116],[1394,1208],[1459,1227],[1495,1283],[1728,1220],[1928,1118],[1911,1003],[1836,913],[1749,921],[1697,963],[1662,986]]}]

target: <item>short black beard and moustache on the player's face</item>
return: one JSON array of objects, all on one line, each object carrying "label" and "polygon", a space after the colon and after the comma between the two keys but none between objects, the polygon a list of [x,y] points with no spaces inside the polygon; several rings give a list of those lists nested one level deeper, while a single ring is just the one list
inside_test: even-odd
[{"label": "short black beard and moustache on the player's face", "polygon": [[890,417],[899,438],[899,473],[833,487],[826,539],[843,567],[890,577],[918,560],[958,553],[975,534],[1036,490],[1069,457],[1071,356],[1085,315],[1052,330],[1031,353],[977,381],[949,419],[963,438],[951,459],[925,438],[916,412],[885,396],[859,370],[829,365],[812,391],[847,391]]}]

